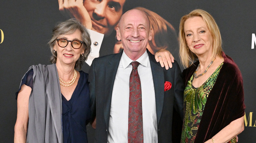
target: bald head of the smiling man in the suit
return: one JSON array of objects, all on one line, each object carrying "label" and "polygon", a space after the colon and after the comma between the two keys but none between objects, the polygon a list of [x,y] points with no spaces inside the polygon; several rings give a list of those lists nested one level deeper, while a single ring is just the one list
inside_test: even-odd
[{"label": "bald head of the smiling man in the suit", "polygon": [[132,9],[125,12],[117,27],[117,40],[122,41],[124,53],[132,60],[137,60],[146,51],[151,40],[149,18],[143,11]]}]

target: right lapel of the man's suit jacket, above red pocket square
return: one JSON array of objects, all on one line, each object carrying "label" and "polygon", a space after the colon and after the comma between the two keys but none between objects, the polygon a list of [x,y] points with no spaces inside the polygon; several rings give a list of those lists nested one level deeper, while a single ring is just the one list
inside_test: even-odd
[{"label": "right lapel of the man's suit jacket, above red pocket square", "polygon": [[157,125],[161,117],[163,109],[163,97],[164,97],[164,73],[160,63],[156,62],[155,56],[152,55],[148,50],[148,56],[153,76],[153,83],[155,88],[156,97],[156,112],[157,112]]}]

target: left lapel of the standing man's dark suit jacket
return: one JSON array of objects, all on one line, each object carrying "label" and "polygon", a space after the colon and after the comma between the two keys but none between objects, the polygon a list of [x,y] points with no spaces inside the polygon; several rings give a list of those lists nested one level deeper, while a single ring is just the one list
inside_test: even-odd
[{"label": "left lapel of the standing man's dark suit jacket", "polygon": [[110,107],[111,107],[111,98],[113,86],[117,74],[118,65],[121,59],[123,52],[120,52],[113,56],[112,60],[108,62],[108,65],[105,66],[105,97],[106,102],[104,106],[104,118],[106,121],[107,128],[109,126],[109,117],[110,117]]}]

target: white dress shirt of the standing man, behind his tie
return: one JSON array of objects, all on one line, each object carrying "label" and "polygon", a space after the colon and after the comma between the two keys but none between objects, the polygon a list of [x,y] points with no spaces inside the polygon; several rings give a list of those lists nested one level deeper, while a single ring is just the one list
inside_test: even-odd
[{"label": "white dress shirt of the standing man, behind his tie", "polygon": [[[142,120],[144,143],[157,143],[157,116],[155,89],[147,51],[137,59],[141,83]],[[133,62],[124,52],[119,62],[114,82],[110,118],[109,143],[128,142],[129,80]]]}]

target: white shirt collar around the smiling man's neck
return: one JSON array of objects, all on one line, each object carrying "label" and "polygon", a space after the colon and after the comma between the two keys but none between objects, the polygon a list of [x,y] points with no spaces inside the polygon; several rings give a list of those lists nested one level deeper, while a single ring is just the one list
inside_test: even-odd
[{"label": "white shirt collar around the smiling man's neck", "polygon": [[[141,65],[147,67],[148,66],[148,61],[149,61],[149,57],[148,57],[148,53],[147,50],[145,51],[145,53],[143,55],[141,55],[137,60],[137,62],[139,62]],[[121,56],[121,63],[123,65],[123,68],[127,68],[131,62],[133,62],[132,59],[130,59],[124,52]]]}]

